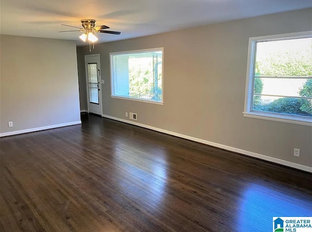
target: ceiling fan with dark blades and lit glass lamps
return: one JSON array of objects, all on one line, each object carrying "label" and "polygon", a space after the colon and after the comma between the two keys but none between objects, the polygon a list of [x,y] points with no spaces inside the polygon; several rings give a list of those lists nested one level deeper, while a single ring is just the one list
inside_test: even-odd
[{"label": "ceiling fan with dark blades and lit glass lamps", "polygon": [[[83,42],[86,42],[86,40],[89,42],[90,51],[91,51],[91,42],[94,43],[98,41],[98,38],[96,37],[95,33],[107,33],[107,34],[120,35],[119,31],[104,30],[104,29],[109,28],[106,25],[96,26],[95,20],[81,20],[81,24],[82,24],[82,27],[71,26],[71,25],[66,25],[66,24],[61,24],[61,25],[79,28],[79,30],[73,30],[73,31],[83,32],[83,34],[79,36],[79,38]],[[59,32],[72,32],[72,31],[59,31]],[[94,48],[94,44],[93,44],[93,48]]]}]

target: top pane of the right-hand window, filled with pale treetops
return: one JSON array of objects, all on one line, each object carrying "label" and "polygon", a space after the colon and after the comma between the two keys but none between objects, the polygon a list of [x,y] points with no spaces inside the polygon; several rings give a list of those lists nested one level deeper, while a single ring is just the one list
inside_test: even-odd
[{"label": "top pane of the right-hand window, filled with pale treetops", "polygon": [[312,38],[256,43],[255,76],[311,76]]}]

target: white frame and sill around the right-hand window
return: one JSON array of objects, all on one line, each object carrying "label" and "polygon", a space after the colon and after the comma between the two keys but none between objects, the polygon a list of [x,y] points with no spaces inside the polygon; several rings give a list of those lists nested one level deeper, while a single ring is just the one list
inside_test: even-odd
[{"label": "white frame and sill around the right-hand window", "polygon": [[271,113],[271,112],[260,112],[260,111],[252,110],[256,42],[279,41],[279,40],[286,40],[290,38],[292,39],[309,38],[311,36],[312,36],[312,31],[305,31],[305,32],[296,32],[296,33],[249,38],[246,91],[245,91],[245,108],[243,112],[244,117],[312,127],[312,118],[308,116],[295,116],[295,115],[287,115],[287,114],[279,114],[279,113]]}]

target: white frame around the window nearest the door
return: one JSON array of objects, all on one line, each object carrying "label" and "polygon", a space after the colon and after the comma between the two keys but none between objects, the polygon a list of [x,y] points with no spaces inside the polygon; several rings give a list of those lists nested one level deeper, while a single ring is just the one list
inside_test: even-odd
[{"label": "white frame around the window nearest the door", "polygon": [[[125,97],[125,96],[118,96],[115,95],[115,88],[114,88],[114,55],[122,55],[122,54],[135,54],[135,53],[142,53],[142,52],[156,52],[161,51],[161,102],[153,101],[153,100],[147,100],[147,99],[139,99],[139,98],[132,98],[132,97]],[[144,103],[151,103],[156,105],[163,105],[164,102],[164,91],[163,91],[163,85],[164,85],[164,48],[158,47],[158,48],[149,48],[149,49],[140,49],[140,50],[131,50],[131,51],[121,51],[121,52],[111,52],[109,54],[110,57],[110,69],[111,69],[111,98],[117,98],[117,99],[124,99],[124,100],[130,100],[130,101],[136,101],[136,102],[144,102]]]}]

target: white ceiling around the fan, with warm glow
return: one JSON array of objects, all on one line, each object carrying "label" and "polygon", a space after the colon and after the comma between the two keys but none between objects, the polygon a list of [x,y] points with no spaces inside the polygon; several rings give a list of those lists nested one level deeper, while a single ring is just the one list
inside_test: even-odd
[{"label": "white ceiling around the fan, with warm glow", "polygon": [[95,19],[120,35],[97,34],[99,42],[124,40],[215,22],[312,7],[311,0],[1,0],[0,33],[75,40],[58,33]]}]

